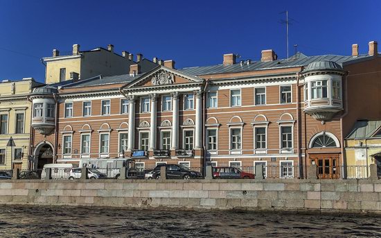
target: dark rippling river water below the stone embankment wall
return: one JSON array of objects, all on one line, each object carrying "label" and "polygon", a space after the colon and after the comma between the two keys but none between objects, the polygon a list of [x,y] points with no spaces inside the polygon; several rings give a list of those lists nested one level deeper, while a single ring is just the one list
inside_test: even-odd
[{"label": "dark rippling river water below the stone embankment wall", "polygon": [[381,237],[381,218],[1,206],[0,237]]}]

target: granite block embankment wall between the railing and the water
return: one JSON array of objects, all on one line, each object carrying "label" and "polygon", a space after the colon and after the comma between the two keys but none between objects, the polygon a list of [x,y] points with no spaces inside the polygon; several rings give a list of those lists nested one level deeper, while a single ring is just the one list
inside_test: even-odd
[{"label": "granite block embankment wall between the railing and the water", "polygon": [[0,203],[381,214],[381,180],[8,180]]}]

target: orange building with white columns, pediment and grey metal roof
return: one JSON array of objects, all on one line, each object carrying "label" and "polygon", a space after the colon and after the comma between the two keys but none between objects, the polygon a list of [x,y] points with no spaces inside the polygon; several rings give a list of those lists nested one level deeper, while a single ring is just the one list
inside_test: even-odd
[{"label": "orange building with white columns, pediment and grey metal roof", "polygon": [[263,164],[276,168],[265,171],[268,177],[292,178],[317,164],[321,178],[341,178],[351,161],[344,138],[358,119],[381,117],[377,42],[366,54],[356,44],[352,50],[283,60],[266,50],[256,62],[226,54],[221,65],[184,69],[168,60],[62,85],[57,124],[44,142],[54,162],[124,157],[141,169]]}]

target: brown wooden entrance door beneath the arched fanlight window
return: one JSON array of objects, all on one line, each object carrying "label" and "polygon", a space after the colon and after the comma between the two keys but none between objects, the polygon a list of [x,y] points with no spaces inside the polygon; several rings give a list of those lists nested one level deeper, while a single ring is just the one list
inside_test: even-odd
[{"label": "brown wooden entrance door beneath the arched fanlight window", "polygon": [[310,155],[311,164],[317,165],[319,178],[340,178],[339,155]]}]

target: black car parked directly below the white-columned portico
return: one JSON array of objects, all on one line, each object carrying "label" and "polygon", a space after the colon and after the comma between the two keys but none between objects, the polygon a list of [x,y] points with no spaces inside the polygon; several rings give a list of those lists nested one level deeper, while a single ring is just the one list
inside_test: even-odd
[{"label": "black car parked directly below the white-columned portico", "polygon": [[152,178],[160,178],[161,167],[166,167],[166,173],[168,179],[191,179],[191,178],[202,178],[202,174],[197,171],[191,171],[187,167],[181,166],[179,164],[159,164],[154,168],[154,173]]}]

